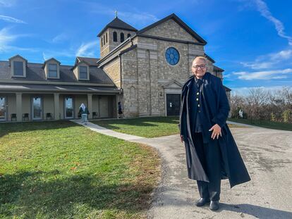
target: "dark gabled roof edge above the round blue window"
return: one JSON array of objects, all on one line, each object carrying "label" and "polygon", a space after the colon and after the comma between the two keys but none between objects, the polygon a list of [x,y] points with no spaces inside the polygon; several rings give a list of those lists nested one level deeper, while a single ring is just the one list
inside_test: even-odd
[{"label": "dark gabled roof edge above the round blue window", "polygon": [[195,31],[192,30],[192,28],[190,28],[186,23],[183,22],[183,20],[181,20],[181,18],[178,18],[178,16],[175,13],[172,13],[171,15],[168,15],[167,17],[163,18],[162,20],[158,20],[155,23],[152,23],[152,25],[149,25],[141,30],[139,30],[137,32],[137,35],[141,35],[143,32],[146,32],[147,30],[150,30],[153,27],[156,27],[157,25],[164,23],[166,20],[169,19],[173,19],[174,21],[176,21],[176,23],[178,23],[178,25],[180,25],[186,32],[188,32],[190,35],[192,35],[193,37],[195,37],[195,39],[197,39],[198,42],[202,43],[202,44],[207,44],[207,42],[202,39],[202,37],[200,37],[199,35],[197,35],[197,33]]}]

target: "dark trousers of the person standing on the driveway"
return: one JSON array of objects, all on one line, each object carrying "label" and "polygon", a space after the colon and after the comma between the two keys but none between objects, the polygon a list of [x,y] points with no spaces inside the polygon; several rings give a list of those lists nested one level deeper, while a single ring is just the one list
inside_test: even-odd
[{"label": "dark trousers of the person standing on the driveway", "polygon": [[219,201],[221,187],[221,151],[219,144],[204,144],[202,132],[195,132],[195,149],[209,182],[197,181],[201,198]]}]

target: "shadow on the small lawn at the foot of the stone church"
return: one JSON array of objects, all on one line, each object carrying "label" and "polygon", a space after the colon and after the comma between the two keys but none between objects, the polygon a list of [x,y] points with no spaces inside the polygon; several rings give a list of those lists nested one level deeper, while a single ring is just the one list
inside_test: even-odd
[{"label": "shadow on the small lawn at the foot of the stone church", "polygon": [[150,118],[130,118],[130,119],[116,119],[116,120],[99,120],[92,121],[102,127],[107,127],[111,130],[124,129],[124,127],[118,127],[117,125],[133,125],[135,127],[159,127],[159,124],[153,123],[169,123],[178,124],[178,116],[174,117],[150,117]]}]

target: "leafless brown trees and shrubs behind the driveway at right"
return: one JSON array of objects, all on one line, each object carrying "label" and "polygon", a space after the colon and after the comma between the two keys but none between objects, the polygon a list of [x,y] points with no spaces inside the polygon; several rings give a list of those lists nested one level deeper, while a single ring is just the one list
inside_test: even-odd
[{"label": "leafless brown trees and shrubs behind the driveway at right", "polygon": [[230,106],[231,118],[239,118],[238,111],[242,109],[243,118],[250,120],[292,123],[292,88],[283,87],[276,92],[250,89],[247,96],[231,95]]}]

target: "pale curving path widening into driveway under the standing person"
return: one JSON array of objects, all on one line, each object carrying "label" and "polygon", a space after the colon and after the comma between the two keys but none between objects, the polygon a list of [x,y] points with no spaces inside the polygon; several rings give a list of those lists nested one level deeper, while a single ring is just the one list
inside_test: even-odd
[{"label": "pale curving path widening into driveway under the standing person", "polygon": [[[94,124],[86,127],[105,133]],[[292,218],[292,132],[261,127],[238,127],[231,132],[252,181],[230,189],[228,180],[223,180],[218,212],[195,206],[199,194],[195,181],[188,180],[178,134],[129,137],[131,142],[153,146],[162,157],[162,182],[154,192],[148,218]]]}]

